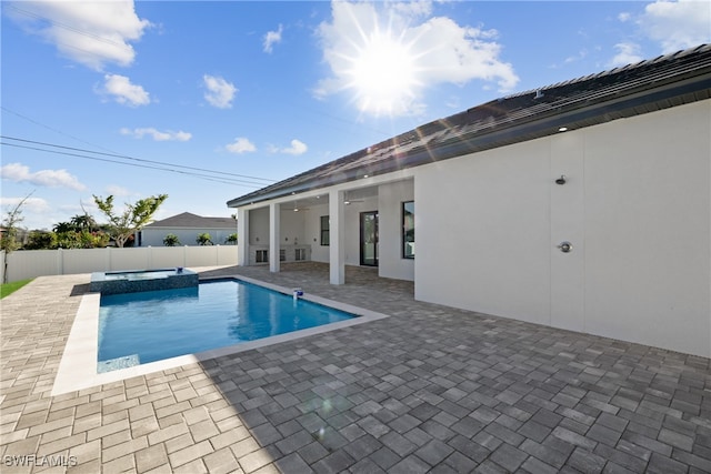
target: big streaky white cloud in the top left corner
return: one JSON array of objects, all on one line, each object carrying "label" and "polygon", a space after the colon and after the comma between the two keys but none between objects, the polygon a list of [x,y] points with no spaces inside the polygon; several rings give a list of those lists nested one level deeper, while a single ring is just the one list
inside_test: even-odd
[{"label": "big streaky white cloud in the top left corner", "polygon": [[98,71],[107,63],[130,65],[136,58],[130,43],[151,27],[138,18],[132,0],[8,2],[6,12],[62,56]]}]

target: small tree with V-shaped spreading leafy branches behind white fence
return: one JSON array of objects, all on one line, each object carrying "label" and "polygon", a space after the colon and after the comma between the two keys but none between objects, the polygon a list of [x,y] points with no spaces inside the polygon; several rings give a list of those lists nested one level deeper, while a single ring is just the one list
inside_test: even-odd
[{"label": "small tree with V-shaped spreading leafy branches behind white fence", "polygon": [[138,200],[134,204],[126,203],[126,210],[118,214],[113,210],[113,195],[109,195],[106,200],[97,195],[93,196],[99,210],[109,219],[107,226],[109,235],[120,248],[133,233],[151,222],[153,214],[166,199],[168,199],[168,194],[159,194]]}]

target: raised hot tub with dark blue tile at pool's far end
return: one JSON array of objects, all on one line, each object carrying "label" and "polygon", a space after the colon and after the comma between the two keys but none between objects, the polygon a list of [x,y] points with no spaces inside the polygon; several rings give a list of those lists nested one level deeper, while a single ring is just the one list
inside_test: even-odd
[{"label": "raised hot tub with dark blue tile at pool's far end", "polygon": [[94,272],[91,274],[89,289],[102,294],[119,294],[190,286],[198,286],[198,274],[192,270],[178,266],[174,269]]}]

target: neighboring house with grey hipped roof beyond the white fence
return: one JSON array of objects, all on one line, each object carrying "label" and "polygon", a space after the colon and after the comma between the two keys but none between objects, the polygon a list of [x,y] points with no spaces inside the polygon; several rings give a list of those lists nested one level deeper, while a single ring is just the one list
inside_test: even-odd
[{"label": "neighboring house with grey hipped roof beyond the white fence", "polygon": [[237,222],[232,218],[203,218],[183,212],[146,225],[138,234],[137,245],[163,246],[168,234],[178,235],[181,245],[198,245],[198,234],[206,232],[212,243],[224,244],[227,238],[237,232]]}]

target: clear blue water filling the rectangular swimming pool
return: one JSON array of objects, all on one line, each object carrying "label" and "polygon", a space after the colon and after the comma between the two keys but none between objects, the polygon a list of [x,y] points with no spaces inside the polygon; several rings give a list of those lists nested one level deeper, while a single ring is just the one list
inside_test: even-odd
[{"label": "clear blue water filling the rectangular swimming pool", "polygon": [[101,295],[98,372],[239,344],[356,317],[259,285]]}]

